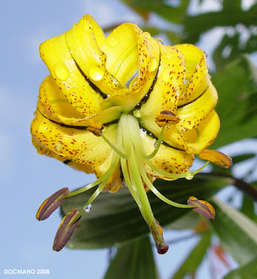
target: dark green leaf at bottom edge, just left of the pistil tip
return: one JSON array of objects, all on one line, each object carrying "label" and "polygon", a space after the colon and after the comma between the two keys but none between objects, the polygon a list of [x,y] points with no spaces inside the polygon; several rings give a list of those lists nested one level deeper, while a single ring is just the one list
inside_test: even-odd
[{"label": "dark green leaf at bottom edge, just left of the pistil tip", "polygon": [[110,262],[104,279],[158,279],[149,236],[122,246]]}]

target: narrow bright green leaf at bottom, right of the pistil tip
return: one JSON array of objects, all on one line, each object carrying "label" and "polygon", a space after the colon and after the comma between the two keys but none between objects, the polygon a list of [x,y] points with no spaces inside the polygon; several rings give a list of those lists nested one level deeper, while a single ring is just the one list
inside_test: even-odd
[{"label": "narrow bright green leaf at bottom, right of the pistil tip", "polygon": [[203,261],[203,257],[205,257],[207,249],[210,247],[211,236],[212,234],[203,234],[199,243],[193,248],[182,266],[172,276],[172,279],[183,279],[187,274],[193,275],[196,272],[198,266]]}]

